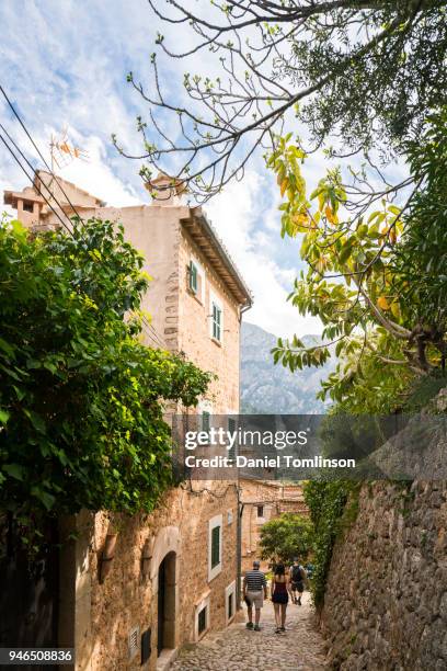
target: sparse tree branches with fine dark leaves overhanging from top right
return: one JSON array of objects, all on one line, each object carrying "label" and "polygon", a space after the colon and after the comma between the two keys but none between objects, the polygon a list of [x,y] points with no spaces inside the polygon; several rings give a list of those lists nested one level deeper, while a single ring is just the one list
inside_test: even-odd
[{"label": "sparse tree branches with fine dark leaves overhanging from top right", "polygon": [[[207,12],[182,0],[149,4],[192,38],[182,53],[159,34],[158,49],[185,70],[190,57],[207,53],[218,75],[185,71],[175,100],[153,53],[153,83],[128,75],[150,109],[150,125],[137,120],[144,151],[119,149],[147,160],[146,179],[153,169],[174,171],[199,198],[241,177],[293,114],[306,124],[309,147],[331,135],[331,151],[346,153],[381,139],[388,156],[446,101],[445,0],[213,0]],[[167,117],[179,124],[177,137],[167,137]]]}]

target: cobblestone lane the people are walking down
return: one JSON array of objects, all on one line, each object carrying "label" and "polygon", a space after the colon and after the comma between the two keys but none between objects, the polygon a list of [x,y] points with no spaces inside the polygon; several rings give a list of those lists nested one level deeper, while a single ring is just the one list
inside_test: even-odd
[{"label": "cobblestone lane the people are walking down", "polygon": [[[261,632],[233,624],[183,649],[172,666],[176,671],[317,671],[325,669],[324,645],[312,621],[309,593],[302,606],[287,607],[286,633],[275,634],[271,601],[264,602]],[[247,610],[244,609],[244,614]]]}]

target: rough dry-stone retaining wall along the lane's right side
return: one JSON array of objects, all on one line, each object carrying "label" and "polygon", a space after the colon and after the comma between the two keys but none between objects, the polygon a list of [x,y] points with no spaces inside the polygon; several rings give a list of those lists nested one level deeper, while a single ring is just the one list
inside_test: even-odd
[{"label": "rough dry-stone retaining wall along the lane's right side", "polygon": [[362,488],[334,548],[322,627],[333,669],[447,669],[446,481]]}]

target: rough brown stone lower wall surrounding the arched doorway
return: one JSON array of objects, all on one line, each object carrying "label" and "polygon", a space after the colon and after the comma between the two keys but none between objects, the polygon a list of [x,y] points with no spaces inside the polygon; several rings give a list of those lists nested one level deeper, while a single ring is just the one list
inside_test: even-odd
[{"label": "rough brown stone lower wall surrounding the arched doorway", "polygon": [[[62,638],[67,645],[76,645],[77,671],[156,669],[158,571],[169,553],[175,553],[169,598],[172,603],[168,604],[169,626],[172,626],[169,648],[197,639],[196,609],[206,600],[209,600],[207,629],[221,629],[228,624],[228,588],[237,579],[237,491],[234,485],[228,484],[220,487],[208,484],[208,487],[213,493],[191,491],[186,485],[172,489],[150,515],[83,513],[78,516],[76,557],[64,562],[61,576]],[[195,488],[198,489],[197,485]],[[218,514],[222,514],[221,570],[209,580],[208,522]],[[105,538],[115,533],[114,558],[108,575],[101,581]],[[150,561],[145,575],[146,543]],[[74,609],[68,602],[67,591],[72,582],[76,583]],[[129,635],[135,628],[138,629],[137,650],[131,656]],[[141,634],[148,629],[152,653],[150,661],[141,667]]]}]

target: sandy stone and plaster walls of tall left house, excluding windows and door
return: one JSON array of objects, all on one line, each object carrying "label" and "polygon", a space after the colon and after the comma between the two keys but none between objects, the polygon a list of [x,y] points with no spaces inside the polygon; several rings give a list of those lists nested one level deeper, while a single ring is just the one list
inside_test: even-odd
[{"label": "sandy stone and plaster walls of tall left house, excluding windows and door", "polygon": [[[205,410],[203,403],[206,403],[211,414],[237,413],[241,306],[227,286],[225,275],[217,272],[206,239],[198,246],[182,224],[190,216],[190,208],[174,202],[89,209],[91,205],[85,203],[82,209],[85,217],[122,221],[126,239],[145,258],[145,270],[152,277],[141,304],[151,315],[151,323],[144,328],[147,344],[184,352],[200,368],[216,374],[198,412]],[[204,271],[204,292],[197,295],[188,289],[192,260]],[[211,338],[211,298],[222,309],[221,342]],[[167,409],[168,414],[176,411],[176,408]],[[67,607],[61,609],[67,613],[61,623],[64,639],[74,640],[77,649],[77,671],[141,668],[140,639],[148,629],[152,652],[145,668],[163,666],[160,657],[157,660],[157,629],[158,573],[164,557],[171,557],[164,581],[169,587],[165,603],[169,602],[171,615],[165,625],[169,640],[163,648],[175,650],[186,641],[196,640],[197,612],[205,606],[206,628],[200,635],[228,624],[229,598],[236,589],[238,568],[236,482],[195,482],[195,492],[187,487],[168,492],[163,504],[147,518],[136,515],[112,524],[105,513],[99,513],[81,521],[74,559],[67,559],[66,564],[71,572],[62,576]],[[220,571],[214,570],[210,575],[209,523],[217,516],[222,521],[222,566]],[[114,559],[108,576],[101,582],[101,554],[115,523],[119,531]],[[145,545],[151,554],[149,577],[141,570]],[[173,554],[174,562],[171,561]],[[70,590],[65,585],[70,585]],[[236,605],[234,594],[233,611]],[[138,648],[135,656],[129,651],[133,635]],[[110,659],[111,649],[114,659]]]}]

